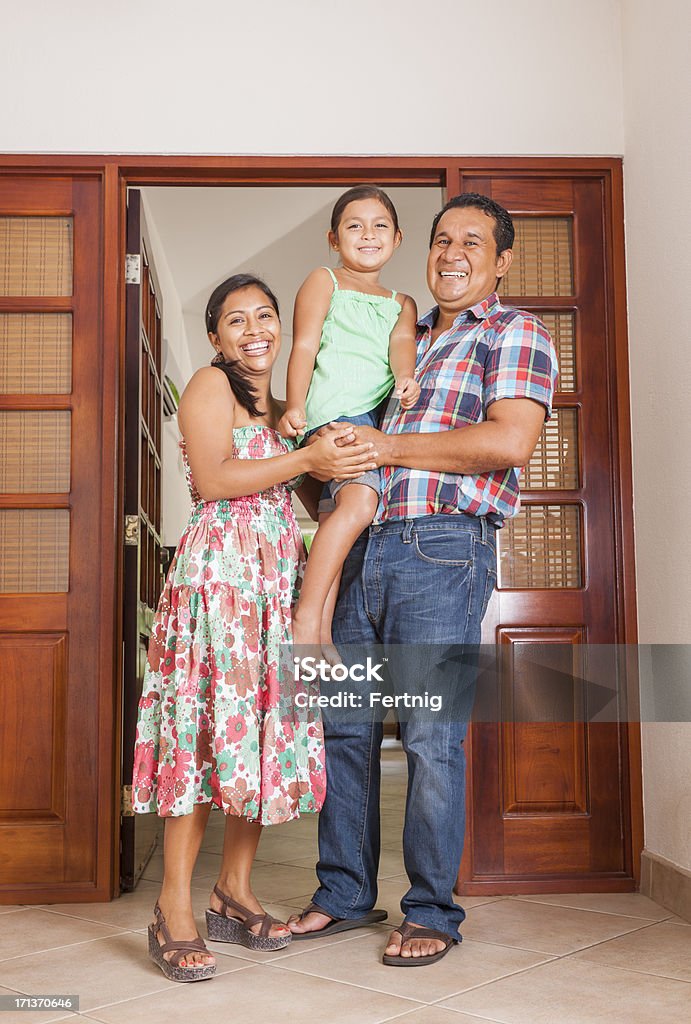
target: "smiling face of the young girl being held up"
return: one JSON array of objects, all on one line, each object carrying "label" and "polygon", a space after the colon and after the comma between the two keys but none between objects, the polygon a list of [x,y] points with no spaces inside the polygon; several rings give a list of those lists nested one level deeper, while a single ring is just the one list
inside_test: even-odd
[{"label": "smiling face of the young girl being held up", "polygon": [[378,199],[360,199],[348,203],[343,211],[338,231],[329,232],[329,244],[339,253],[348,270],[379,270],[400,245],[401,233],[393,226],[393,218]]}]

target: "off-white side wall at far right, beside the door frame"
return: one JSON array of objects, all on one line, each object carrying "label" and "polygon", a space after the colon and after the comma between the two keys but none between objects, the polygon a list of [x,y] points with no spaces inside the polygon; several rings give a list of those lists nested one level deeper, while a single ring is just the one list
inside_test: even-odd
[{"label": "off-white side wall at far right, beside the door frame", "polygon": [[[623,0],[624,178],[640,640],[691,677],[691,136],[686,0]],[[643,726],[646,848],[691,870],[691,723]]]}]

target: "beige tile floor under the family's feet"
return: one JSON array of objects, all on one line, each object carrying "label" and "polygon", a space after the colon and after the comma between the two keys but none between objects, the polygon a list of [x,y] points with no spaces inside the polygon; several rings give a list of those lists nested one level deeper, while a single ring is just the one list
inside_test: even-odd
[{"label": "beige tile floor under the family's feet", "polygon": [[[405,768],[384,753],[383,855],[378,905],[400,920]],[[220,862],[222,818],[212,815],[195,874],[204,909]],[[313,890],[316,823],[264,834],[254,885],[287,918]],[[0,995],[80,995],[80,1013],[2,1013],[0,1024],[680,1024],[691,1021],[691,927],[638,894],[475,897],[464,942],[414,971],[380,963],[385,926],[295,943],[273,953],[213,943],[218,974],[167,981],[146,957],[146,925],[162,860],[135,893],[106,904],[0,907]]]}]

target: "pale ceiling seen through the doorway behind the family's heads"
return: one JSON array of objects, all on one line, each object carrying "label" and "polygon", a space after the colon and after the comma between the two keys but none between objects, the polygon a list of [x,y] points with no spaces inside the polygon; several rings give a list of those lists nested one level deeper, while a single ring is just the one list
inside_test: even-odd
[{"label": "pale ceiling seen through the doorway behind the family's heads", "polygon": [[[315,266],[334,265],[326,234],[331,209],[343,187],[208,186],[146,187],[148,215],[161,240],[186,327],[192,367],[208,361],[204,309],[212,290],[231,273],[264,278],[282,307],[290,340],[293,299]],[[398,211],[403,243],[382,280],[431,304],[425,261],[432,218],[442,204],[439,187],[387,188]],[[164,296],[165,304],[165,296]],[[280,379],[290,345],[285,345]]]}]

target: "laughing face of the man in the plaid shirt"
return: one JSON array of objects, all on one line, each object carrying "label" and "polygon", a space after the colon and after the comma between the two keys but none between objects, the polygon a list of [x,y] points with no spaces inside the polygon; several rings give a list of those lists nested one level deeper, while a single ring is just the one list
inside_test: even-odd
[{"label": "laughing face of the man in the plaid shirt", "polygon": [[473,206],[447,210],[427,260],[427,286],[439,309],[456,316],[490,295],[513,259],[496,255],[494,218]]}]

